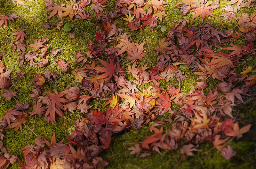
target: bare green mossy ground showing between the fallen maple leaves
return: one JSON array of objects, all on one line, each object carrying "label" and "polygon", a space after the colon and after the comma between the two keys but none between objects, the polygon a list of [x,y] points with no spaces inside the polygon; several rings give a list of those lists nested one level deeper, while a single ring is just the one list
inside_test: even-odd
[{"label": "bare green mossy ground showing between the fallen maple leaves", "polygon": [[[68,17],[62,19],[65,23],[73,23],[75,24],[75,28],[72,30],[76,34],[76,38],[71,39],[69,37],[69,33],[62,26],[60,31],[56,28],[56,24],[60,22],[60,18],[55,15],[52,18],[48,19],[49,12],[44,12],[47,7],[45,7],[45,3],[43,0],[27,0],[24,1],[25,5],[16,5],[16,2],[10,4],[11,2],[1,1],[0,3],[0,14],[16,14],[20,16],[22,19],[16,18],[15,22],[8,22],[8,26],[0,27],[0,54],[2,55],[2,62],[6,65],[8,70],[12,71],[12,90],[17,91],[17,96],[15,99],[12,98],[10,101],[5,100],[2,96],[0,98],[0,118],[4,117],[4,113],[6,113],[12,105],[15,105],[16,102],[24,104],[25,100],[30,105],[29,111],[31,111],[31,105],[33,105],[34,100],[29,96],[32,93],[33,83],[29,81],[35,76],[33,73],[41,73],[43,74],[45,70],[52,70],[57,73],[59,76],[57,82],[48,82],[44,85],[43,90],[50,89],[53,91],[53,87],[56,87],[58,92],[63,91],[65,88],[71,88],[73,86],[79,86],[80,83],[75,81],[74,72],[76,70],[76,66],[72,64],[76,61],[76,52],[88,52],[89,47],[87,43],[94,39],[94,35],[99,29],[96,26],[99,26],[101,23],[99,21],[94,21],[94,17],[92,15],[92,20],[83,20],[73,18],[70,20]],[[189,24],[187,26],[201,26],[206,24],[207,22],[211,22],[213,27],[219,28],[219,31],[223,31],[224,29],[229,30],[233,29],[238,31],[237,29],[237,21],[233,19],[232,24],[230,24],[229,20],[221,21],[223,17],[218,17],[224,11],[222,7],[228,2],[227,0],[220,1],[220,7],[212,12],[215,18],[206,17],[204,22],[201,22],[201,18],[197,17],[196,19],[192,19],[192,14],[187,14],[185,16],[181,15],[176,3],[178,0],[167,0],[169,2],[168,5],[165,5],[164,8],[166,10],[167,17],[163,18],[162,23],[158,23],[161,26],[166,26],[166,30],[170,30],[172,26],[172,22],[175,22],[179,18],[184,20],[189,20]],[[58,2],[56,2],[58,3]],[[9,5],[10,4],[10,5]],[[109,0],[106,4],[106,7],[103,8],[103,12],[108,12],[114,9],[111,0]],[[90,9],[90,7],[87,7]],[[246,8],[246,12],[251,15],[253,11],[256,11],[256,7],[251,9]],[[245,12],[243,9],[238,12],[238,15],[241,15]],[[148,54],[146,55],[148,60],[151,62],[148,63],[149,66],[156,64],[156,53],[154,43],[158,43],[158,39],[162,39],[167,36],[166,32],[161,32],[160,28],[154,28],[153,30],[148,26],[140,29],[138,31],[130,31],[127,25],[124,25],[124,20],[119,18],[118,20],[114,20],[114,22],[118,22],[118,28],[123,29],[123,33],[128,32],[128,34],[132,34],[131,40],[134,42],[145,42],[144,47],[148,48]],[[159,22],[159,21],[158,21]],[[44,25],[51,23],[52,29],[45,29]],[[12,41],[15,41],[16,36],[11,35],[11,33],[17,32],[17,29],[26,30],[26,34],[28,39],[25,40],[26,44],[34,43],[35,39],[38,37],[46,37],[49,38],[51,44],[49,46],[49,51],[52,49],[62,48],[60,53],[55,57],[52,57],[48,52],[46,55],[48,57],[49,63],[48,66],[43,68],[38,68],[36,65],[32,65],[29,67],[29,63],[26,64],[25,67],[19,66],[18,58],[21,55],[21,52],[12,53]],[[153,42],[153,43],[152,43]],[[119,42],[115,42],[113,45],[116,46]],[[241,44],[242,42],[237,40],[234,44]],[[225,46],[224,46],[225,47]],[[255,46],[254,46],[255,48]],[[30,51],[31,47],[27,47],[27,50]],[[60,67],[57,65],[57,61],[59,58],[62,58],[66,62],[69,63],[69,72],[61,72]],[[104,58],[100,58],[104,59]],[[145,64],[148,62],[147,59],[144,59],[140,64]],[[127,59],[120,59],[121,65],[130,64],[130,61]],[[35,62],[40,62],[40,58]],[[89,62],[92,62],[89,59]],[[81,63],[80,63],[81,65]],[[248,55],[244,58],[244,61],[237,64],[236,72],[243,71],[244,67],[252,66],[252,70],[256,70],[256,59],[253,55]],[[23,79],[18,80],[16,76],[16,70],[19,68],[22,72],[26,72]],[[180,69],[183,69],[185,75],[188,80],[182,81],[182,92],[189,92],[191,88],[195,86],[195,79],[197,79],[197,75],[191,73],[191,69],[188,66],[182,66]],[[127,75],[128,76],[128,75]],[[129,78],[129,77],[127,77]],[[217,82],[218,83],[218,82]],[[165,82],[162,80],[161,85],[169,86],[169,84],[175,85],[178,84],[176,80]],[[217,86],[212,80],[208,79],[208,85],[210,88],[215,89]],[[238,84],[239,85],[239,84]],[[139,89],[145,88],[148,85],[142,85],[138,87]],[[237,120],[239,121],[239,125],[241,126],[252,123],[251,130],[244,134],[244,136],[238,140],[234,139],[229,144],[232,145],[233,149],[237,152],[236,156],[229,160],[225,160],[221,153],[216,149],[205,153],[212,149],[212,143],[203,143],[200,144],[198,149],[203,149],[201,152],[196,152],[195,156],[187,157],[185,161],[180,162],[181,168],[254,168],[256,167],[256,95],[255,88],[250,92],[253,96],[251,99],[245,101],[244,104],[241,104],[237,107],[234,107],[235,110],[234,117],[237,115]],[[2,92],[2,91],[0,91]],[[92,109],[104,110],[103,105],[104,101],[101,100],[92,100],[90,105],[93,105]],[[173,109],[177,109],[178,106],[173,105]],[[45,139],[51,140],[53,133],[55,133],[57,142],[59,142],[62,138],[64,138],[64,143],[67,143],[68,140],[66,136],[69,134],[69,130],[73,129],[73,123],[80,116],[84,116],[81,112],[76,112],[75,114],[71,114],[69,111],[64,112],[64,115],[68,117],[67,119],[62,119],[57,117],[57,124],[48,124],[43,117],[39,118],[38,116],[31,116],[27,119],[25,124],[28,126],[22,126],[22,130],[14,131],[13,129],[5,129],[3,144],[7,149],[7,152],[10,152],[13,155],[17,155],[20,159],[22,158],[22,150],[26,144],[34,141],[37,136],[42,135]],[[164,117],[163,117],[164,118]],[[148,124],[150,126],[150,124]],[[145,127],[148,127],[145,126]],[[171,127],[171,126],[169,126]],[[29,128],[29,129],[28,129]],[[33,129],[33,133],[31,134],[30,129]],[[165,129],[168,129],[166,126]],[[143,136],[150,135],[151,132],[148,128],[141,128],[139,130],[130,129],[123,131],[121,133],[115,134],[111,140],[110,147],[107,150],[101,152],[100,157],[105,159],[109,165],[107,168],[179,168],[178,163],[175,160],[175,157],[180,160],[181,154],[179,151],[174,151],[173,156],[171,151],[162,151],[163,155],[158,153],[152,154],[146,158],[136,158],[134,155],[130,155],[130,151],[127,150],[131,145],[123,144],[123,143],[136,143],[143,141]],[[10,168],[20,168],[18,162],[14,165],[10,165]]]}]

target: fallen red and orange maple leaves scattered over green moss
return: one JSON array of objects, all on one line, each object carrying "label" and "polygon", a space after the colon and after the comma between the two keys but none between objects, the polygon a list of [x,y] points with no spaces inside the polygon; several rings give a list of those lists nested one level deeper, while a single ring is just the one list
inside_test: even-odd
[{"label": "fallen red and orange maple leaves scattered over green moss", "polygon": [[[24,4],[22,0],[16,2],[17,5]],[[112,23],[112,20],[122,17],[131,31],[145,26],[153,29],[167,16],[164,9],[167,2],[117,0],[114,3],[115,9],[109,13],[102,13],[105,7],[103,4],[107,0],[74,0],[65,4],[57,4],[52,0],[44,2],[48,7],[45,12],[49,13],[49,18],[59,15],[60,18],[90,19],[90,15],[95,15],[102,24],[99,25],[95,39],[88,43],[90,49],[87,55],[79,51],[76,53],[77,60],[73,64],[82,65],[76,67],[73,74],[74,80],[81,83],[80,86],[66,88],[59,93],[55,89],[46,91],[43,90],[44,84],[51,80],[57,81],[58,75],[50,70],[46,70],[43,75],[34,73],[34,78],[29,81],[34,83],[29,95],[35,100],[34,104],[29,105],[26,101],[24,105],[16,103],[4,112],[0,133],[1,152],[4,154],[0,157],[1,168],[7,168],[16,161],[23,168],[104,168],[108,162],[99,156],[102,149],[108,149],[111,137],[130,128],[140,129],[151,121],[154,121],[150,126],[152,135],[128,148],[130,154],[146,157],[154,151],[161,154],[161,149],[171,152],[178,149],[182,154],[181,159],[176,158],[179,164],[186,156],[193,156],[193,151],[202,151],[197,149],[200,143],[211,142],[225,159],[236,155],[236,151],[228,143],[236,137],[242,137],[252,124],[240,127],[238,122],[234,122],[232,107],[243,103],[244,96],[250,96],[247,92],[250,86],[255,85],[256,75],[250,73],[252,67],[245,68],[240,74],[236,74],[235,69],[236,63],[246,55],[256,53],[256,13],[251,16],[247,13],[235,16],[235,13],[240,8],[253,7],[255,0],[231,0],[223,8],[225,12],[220,17],[224,17],[223,20],[229,19],[230,22],[236,19],[239,32],[232,29],[220,32],[211,23],[187,27],[188,20],[182,19],[172,23],[173,26],[167,31],[168,36],[159,39],[155,46],[157,64],[154,66],[139,64],[141,60],[147,59],[145,42],[139,44],[132,41],[131,35],[122,32],[123,29],[118,28],[117,22]],[[84,9],[89,4],[90,13]],[[179,8],[182,15],[192,13],[193,18],[201,16],[203,21],[206,14],[214,17],[211,11],[219,7],[219,0],[214,3],[207,0],[184,0],[176,5],[182,5]],[[10,21],[15,21],[14,18],[21,19],[15,14],[0,15],[0,26],[7,27]],[[60,30],[64,24],[61,21],[56,28]],[[51,24],[44,27],[53,28]],[[71,28],[70,25],[65,26],[65,29]],[[34,43],[26,43],[26,30],[18,29],[12,35],[17,36],[12,42],[12,49],[13,53],[20,53],[18,62],[22,67],[32,67],[35,64],[42,68],[51,64],[46,54],[50,53],[55,57],[61,51],[61,48],[49,51],[49,39],[45,37],[38,37]],[[75,36],[75,33],[70,34],[71,38]],[[116,36],[120,38],[116,39]],[[118,44],[111,48],[115,40]],[[243,40],[244,43],[236,46],[232,44],[235,40]],[[227,48],[221,47],[224,43],[228,44]],[[34,50],[26,51],[27,46]],[[217,48],[226,52],[215,52]],[[99,59],[102,56],[104,60]],[[39,58],[42,62],[35,62]],[[131,66],[122,65],[119,58],[128,59]],[[92,61],[91,64],[89,60]],[[57,64],[61,72],[69,71],[69,63],[62,58]],[[187,79],[183,76],[184,72],[178,69],[180,65],[189,66],[198,75],[196,86],[189,93],[180,90],[182,81]],[[12,70],[8,70],[2,61],[0,68],[1,96],[11,100],[17,94],[17,91],[12,91]],[[21,70],[17,72],[18,80],[22,80],[25,74]],[[129,81],[127,74],[133,80]],[[177,78],[179,85],[160,87],[160,82],[170,78]],[[207,89],[208,78],[216,79],[218,88]],[[242,82],[244,85],[234,87]],[[149,83],[152,85],[142,91],[137,89],[138,86]],[[205,93],[206,89],[209,92]],[[109,95],[110,98],[107,97]],[[107,100],[104,107],[108,107],[104,111],[92,110],[89,102],[93,99]],[[180,105],[180,109],[172,110],[172,104]],[[63,114],[65,110],[84,113],[84,117],[74,123],[76,129],[67,136],[68,143],[62,143],[63,140],[56,143],[55,135],[51,141],[38,136],[34,144],[22,148],[25,161],[4,148],[3,130],[21,130],[22,126],[27,126],[28,116],[39,116],[48,123],[56,123],[56,116],[67,118]],[[164,114],[169,114],[168,119],[159,121],[157,118]],[[166,123],[171,123],[172,129],[163,132]],[[31,132],[34,133],[33,130]]]}]

